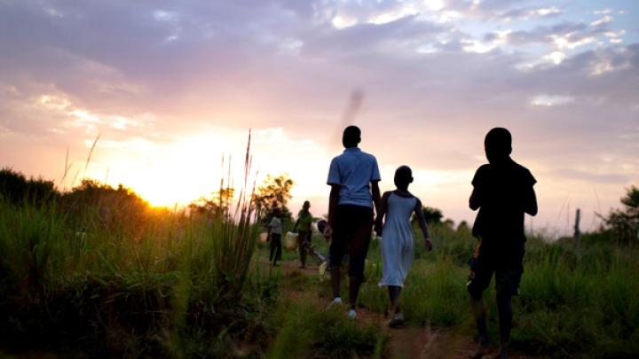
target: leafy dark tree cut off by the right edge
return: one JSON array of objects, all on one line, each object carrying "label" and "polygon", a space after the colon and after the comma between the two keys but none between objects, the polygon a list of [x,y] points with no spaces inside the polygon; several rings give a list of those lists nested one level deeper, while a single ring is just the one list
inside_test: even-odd
[{"label": "leafy dark tree cut off by the right edge", "polygon": [[639,240],[639,189],[631,186],[621,198],[623,209],[615,209],[604,217],[606,227],[619,243]]}]

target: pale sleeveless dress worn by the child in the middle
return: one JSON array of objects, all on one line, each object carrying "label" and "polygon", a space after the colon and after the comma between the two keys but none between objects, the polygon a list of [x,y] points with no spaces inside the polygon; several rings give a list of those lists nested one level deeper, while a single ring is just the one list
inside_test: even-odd
[{"label": "pale sleeveless dress worn by the child in the middle", "polygon": [[405,198],[390,193],[382,230],[383,270],[380,286],[404,286],[413,262],[414,240],[410,217],[416,204],[416,197]]}]

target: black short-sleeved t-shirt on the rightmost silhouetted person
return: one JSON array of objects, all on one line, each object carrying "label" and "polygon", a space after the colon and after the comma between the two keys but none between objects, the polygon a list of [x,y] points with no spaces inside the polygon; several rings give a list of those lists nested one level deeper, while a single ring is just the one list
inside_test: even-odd
[{"label": "black short-sleeved t-shirt on the rightmost silhouetted person", "polygon": [[530,171],[514,160],[477,168],[472,184],[480,208],[473,235],[484,238],[486,245],[524,242],[525,201],[534,183]]}]

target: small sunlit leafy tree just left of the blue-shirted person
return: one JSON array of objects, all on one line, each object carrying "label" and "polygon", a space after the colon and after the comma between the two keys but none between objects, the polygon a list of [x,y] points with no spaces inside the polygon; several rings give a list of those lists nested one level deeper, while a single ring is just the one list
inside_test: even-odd
[{"label": "small sunlit leafy tree just left of the blue-shirted person", "polygon": [[287,175],[266,176],[264,183],[257,187],[253,197],[258,220],[265,222],[272,218],[273,208],[280,208],[280,215],[289,220],[293,218],[288,210],[288,201],[292,198],[290,191],[293,180]]}]

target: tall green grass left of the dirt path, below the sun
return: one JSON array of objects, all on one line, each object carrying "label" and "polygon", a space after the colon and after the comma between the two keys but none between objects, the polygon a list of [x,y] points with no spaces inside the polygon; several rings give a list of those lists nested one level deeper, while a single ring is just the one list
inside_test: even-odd
[{"label": "tall green grass left of the dirt path, below the sun", "polygon": [[[247,166],[249,169],[249,146]],[[252,207],[118,226],[0,196],[0,345],[66,355],[259,355],[277,283],[256,270]],[[139,226],[135,230],[131,226]]]}]

